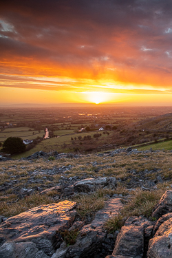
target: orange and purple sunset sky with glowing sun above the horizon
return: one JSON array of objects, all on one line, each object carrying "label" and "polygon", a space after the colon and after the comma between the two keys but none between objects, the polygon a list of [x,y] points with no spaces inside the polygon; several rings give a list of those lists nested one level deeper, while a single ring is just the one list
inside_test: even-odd
[{"label": "orange and purple sunset sky with glowing sun above the horizon", "polygon": [[171,105],[172,1],[1,1],[0,103]]}]

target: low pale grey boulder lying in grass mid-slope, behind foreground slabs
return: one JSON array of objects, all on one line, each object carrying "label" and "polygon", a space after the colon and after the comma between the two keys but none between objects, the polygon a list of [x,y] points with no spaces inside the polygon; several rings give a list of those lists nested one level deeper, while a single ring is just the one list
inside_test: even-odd
[{"label": "low pale grey boulder lying in grass mid-slope, behind foreground slabs", "polygon": [[116,185],[117,182],[114,177],[88,178],[74,183],[74,191],[89,193],[104,187],[114,189],[116,188]]}]

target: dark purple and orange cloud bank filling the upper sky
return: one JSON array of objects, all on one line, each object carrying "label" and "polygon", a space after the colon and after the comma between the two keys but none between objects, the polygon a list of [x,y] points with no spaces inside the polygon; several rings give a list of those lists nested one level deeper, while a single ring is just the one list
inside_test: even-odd
[{"label": "dark purple and orange cloud bank filling the upper sky", "polygon": [[1,73],[169,87],[171,14],[170,0],[1,1]]}]

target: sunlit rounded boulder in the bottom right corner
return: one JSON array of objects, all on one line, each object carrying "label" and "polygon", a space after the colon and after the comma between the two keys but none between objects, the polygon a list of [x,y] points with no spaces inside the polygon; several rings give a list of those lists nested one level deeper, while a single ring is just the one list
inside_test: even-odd
[{"label": "sunlit rounded boulder in the bottom right corner", "polygon": [[164,221],[149,241],[148,258],[172,257],[172,218]]}]

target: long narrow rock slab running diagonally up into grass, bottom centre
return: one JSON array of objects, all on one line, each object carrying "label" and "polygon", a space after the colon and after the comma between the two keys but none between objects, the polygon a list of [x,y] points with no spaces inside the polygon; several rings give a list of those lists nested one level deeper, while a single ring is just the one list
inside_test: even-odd
[{"label": "long narrow rock slab running diagonally up into grass, bottom centre", "polygon": [[76,244],[67,248],[58,248],[52,258],[86,258],[96,254],[107,233],[103,226],[107,219],[117,215],[123,207],[119,198],[109,199],[105,207],[96,213],[91,224],[83,226],[76,239]]}]

